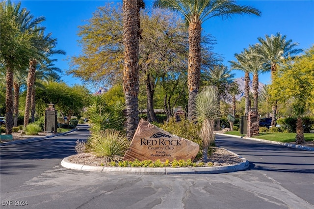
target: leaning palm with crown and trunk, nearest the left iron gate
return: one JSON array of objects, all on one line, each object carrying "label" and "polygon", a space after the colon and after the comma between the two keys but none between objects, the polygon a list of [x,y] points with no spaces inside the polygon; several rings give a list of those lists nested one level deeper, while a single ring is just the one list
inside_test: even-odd
[{"label": "leaning palm with crown and trunk, nearest the left iron gate", "polygon": [[[29,110],[31,108],[31,98],[35,93],[34,83],[35,83],[35,73],[37,64],[41,64],[44,61],[49,62],[49,56],[53,54],[66,54],[63,50],[54,50],[57,39],[51,37],[52,33],[44,35],[44,31],[40,30],[38,35],[33,40],[32,45],[36,51],[36,54],[29,60],[29,69],[27,75],[27,90],[26,90],[26,104],[24,113],[24,127],[28,124]],[[34,104],[33,104],[34,105]]]}]

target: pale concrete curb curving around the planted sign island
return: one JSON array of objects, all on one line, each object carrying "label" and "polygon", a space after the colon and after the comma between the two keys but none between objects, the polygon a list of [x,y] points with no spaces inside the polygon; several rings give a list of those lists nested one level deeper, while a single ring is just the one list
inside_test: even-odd
[{"label": "pale concrete curb curving around the planted sign island", "polygon": [[[236,156],[240,157],[238,155]],[[181,168],[104,167],[104,166],[91,166],[91,165],[82,165],[82,164],[73,163],[68,160],[69,157],[64,157],[63,160],[61,161],[61,165],[65,168],[81,170],[81,171],[99,172],[99,173],[140,174],[140,175],[219,174],[219,173],[228,173],[228,172],[245,170],[249,167],[249,164],[250,164],[248,160],[246,160],[243,157],[240,157],[243,160],[241,163],[237,163],[234,165],[215,166],[215,167],[188,167],[188,168],[186,167],[181,167]]]}]

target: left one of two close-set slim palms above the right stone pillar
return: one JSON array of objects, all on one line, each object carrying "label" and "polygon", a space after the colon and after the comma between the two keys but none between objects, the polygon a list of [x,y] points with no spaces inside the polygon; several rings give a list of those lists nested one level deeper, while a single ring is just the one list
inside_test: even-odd
[{"label": "left one of two close-set slim palms above the right stone pillar", "polygon": [[235,58],[237,61],[229,61],[231,63],[231,69],[234,70],[240,70],[245,73],[244,75],[244,81],[245,81],[245,87],[244,87],[244,95],[245,95],[245,115],[249,114],[250,110],[250,65],[249,65],[249,59],[250,59],[250,53],[247,49],[244,49],[244,52],[241,53],[235,53]]}]

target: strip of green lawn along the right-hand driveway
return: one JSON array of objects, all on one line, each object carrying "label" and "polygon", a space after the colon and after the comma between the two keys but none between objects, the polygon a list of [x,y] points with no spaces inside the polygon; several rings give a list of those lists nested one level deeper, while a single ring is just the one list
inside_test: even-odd
[{"label": "strip of green lawn along the right-hand driveway", "polygon": [[[226,134],[243,136],[239,133],[239,131],[228,131]],[[278,142],[294,142],[296,133],[260,133],[258,136],[254,136],[252,138],[265,139],[269,141],[278,141]],[[304,133],[305,141],[313,141],[314,133]]]}]

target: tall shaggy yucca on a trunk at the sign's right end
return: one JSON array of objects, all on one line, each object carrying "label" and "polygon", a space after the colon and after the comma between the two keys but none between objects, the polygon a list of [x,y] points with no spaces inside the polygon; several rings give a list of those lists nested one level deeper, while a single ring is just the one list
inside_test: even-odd
[{"label": "tall shaggy yucca on a trunk at the sign's right end", "polygon": [[203,140],[203,160],[208,159],[208,147],[214,145],[214,120],[219,117],[218,88],[205,86],[195,99],[195,116],[202,124],[200,137]]}]

